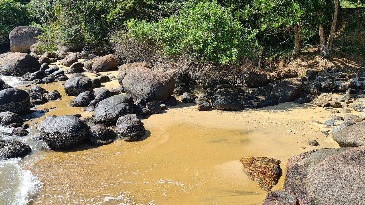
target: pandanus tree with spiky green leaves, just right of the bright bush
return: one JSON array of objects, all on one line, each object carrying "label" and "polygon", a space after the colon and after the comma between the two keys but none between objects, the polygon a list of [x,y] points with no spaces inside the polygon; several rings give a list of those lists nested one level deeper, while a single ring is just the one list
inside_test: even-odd
[{"label": "pandanus tree with spiky green leaves, just right of the bright bush", "polygon": [[301,32],[303,29],[308,30],[307,25],[310,24],[310,13],[307,11],[309,5],[309,0],[255,0],[252,5],[246,5],[237,11],[234,17],[247,20],[257,15],[258,30],[266,35],[283,35],[286,40],[295,35],[291,56],[294,60],[300,52]]}]

